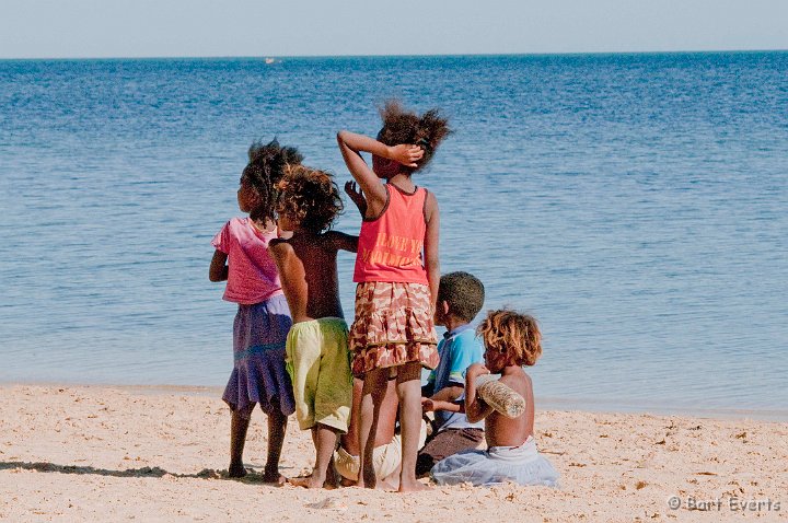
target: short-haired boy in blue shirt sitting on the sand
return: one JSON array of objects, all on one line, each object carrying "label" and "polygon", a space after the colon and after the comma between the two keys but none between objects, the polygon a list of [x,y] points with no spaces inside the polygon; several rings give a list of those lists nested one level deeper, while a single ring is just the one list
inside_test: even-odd
[{"label": "short-haired boy in blue shirt sitting on the sand", "polygon": [[438,288],[436,325],[447,333],[438,345],[440,363],[421,388],[421,408],[434,411],[434,433],[419,452],[416,475],[429,474],[444,457],[484,444],[484,421],[468,421],[462,411],[465,371],[483,361],[482,341],[471,322],[484,305],[484,286],[467,272],[443,275]]}]

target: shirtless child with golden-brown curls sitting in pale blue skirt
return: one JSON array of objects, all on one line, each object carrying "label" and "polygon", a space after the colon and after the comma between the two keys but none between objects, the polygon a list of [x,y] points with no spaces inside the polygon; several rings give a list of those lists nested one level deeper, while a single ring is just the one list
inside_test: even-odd
[{"label": "shirtless child with golden-brown curls sitting in pale blue skirt", "polygon": [[[533,365],[542,355],[536,319],[513,311],[491,311],[478,333],[485,344],[486,367],[474,363],[465,374],[465,414],[470,421],[485,420],[488,449],[461,452],[438,462],[432,467],[432,478],[439,485],[490,486],[514,481],[554,487],[558,473],[536,451],[533,387],[521,367]],[[522,416],[507,418],[476,395],[476,379],[488,373],[501,373],[500,382],[525,399]]]}]

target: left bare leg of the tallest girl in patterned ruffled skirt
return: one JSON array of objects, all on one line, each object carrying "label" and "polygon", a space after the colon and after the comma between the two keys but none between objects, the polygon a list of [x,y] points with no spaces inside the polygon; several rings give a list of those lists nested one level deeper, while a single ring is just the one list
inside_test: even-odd
[{"label": "left bare leg of the tallest girl in patterned ruffled skirt", "polygon": [[[375,434],[378,433],[378,419],[386,393],[387,379],[389,369],[375,369],[369,371],[364,376],[363,390],[361,391],[361,419],[359,420],[361,460],[359,478],[356,484],[359,487],[375,488],[378,484],[372,456],[374,454]],[[419,409],[421,408],[420,402],[421,392],[419,391]]]}]

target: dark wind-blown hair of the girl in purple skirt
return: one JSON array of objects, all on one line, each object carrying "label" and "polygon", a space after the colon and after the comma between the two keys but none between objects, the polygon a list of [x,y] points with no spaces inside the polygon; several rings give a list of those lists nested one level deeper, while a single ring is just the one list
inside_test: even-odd
[{"label": "dark wind-blown hair of the girl in purple skirt", "polygon": [[285,168],[290,164],[300,164],[303,155],[294,147],[281,147],[276,138],[263,144],[252,143],[248,150],[248,164],[241,174],[241,183],[247,183],[260,202],[250,212],[255,221],[275,220],[275,186],[281,179]]}]

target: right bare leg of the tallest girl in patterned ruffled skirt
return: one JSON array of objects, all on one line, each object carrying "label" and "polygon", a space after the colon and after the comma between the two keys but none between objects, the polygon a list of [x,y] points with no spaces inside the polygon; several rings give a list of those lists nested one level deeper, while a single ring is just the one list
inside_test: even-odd
[{"label": "right bare leg of the tallest girl in patterned ruffled skirt", "polygon": [[403,461],[399,472],[399,491],[425,490],[416,480],[416,457],[421,430],[421,365],[412,361],[399,365],[397,373],[399,396],[399,425],[402,426]]}]

